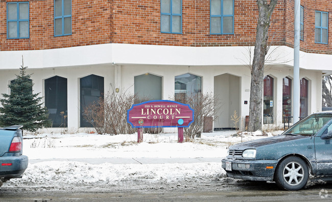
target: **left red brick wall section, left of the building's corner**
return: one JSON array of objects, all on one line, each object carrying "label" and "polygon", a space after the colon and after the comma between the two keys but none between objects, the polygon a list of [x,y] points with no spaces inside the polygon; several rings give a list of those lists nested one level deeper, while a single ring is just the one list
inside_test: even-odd
[{"label": "left red brick wall section, left of the building's corner", "polygon": [[109,43],[110,0],[72,1],[72,35],[54,37],[54,0],[30,0],[30,38],[7,39],[7,2],[0,0],[0,50],[35,50]]}]

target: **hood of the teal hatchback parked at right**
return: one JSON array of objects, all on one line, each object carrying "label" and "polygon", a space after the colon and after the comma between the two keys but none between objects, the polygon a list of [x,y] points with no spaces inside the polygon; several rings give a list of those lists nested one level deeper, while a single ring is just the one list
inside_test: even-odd
[{"label": "hood of the teal hatchback parked at right", "polygon": [[268,138],[264,138],[264,139],[235,144],[235,145],[230,146],[229,149],[243,150],[246,148],[256,148],[256,147],[265,146],[265,145],[269,145],[269,144],[297,140],[297,139],[302,139],[302,138],[307,138],[307,137],[308,136],[302,136],[302,135],[301,136],[280,135],[280,136],[268,137]]}]

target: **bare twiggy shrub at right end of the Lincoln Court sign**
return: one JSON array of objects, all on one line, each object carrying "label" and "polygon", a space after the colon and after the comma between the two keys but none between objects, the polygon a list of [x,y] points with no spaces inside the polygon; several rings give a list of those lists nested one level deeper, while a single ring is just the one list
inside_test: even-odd
[{"label": "bare twiggy shrub at right end of the Lincoln Court sign", "polygon": [[218,118],[216,112],[221,107],[220,99],[212,92],[176,96],[175,101],[187,104],[194,110],[194,122],[188,128],[184,128],[185,141],[200,136],[204,126],[204,117],[210,116],[216,120]]}]

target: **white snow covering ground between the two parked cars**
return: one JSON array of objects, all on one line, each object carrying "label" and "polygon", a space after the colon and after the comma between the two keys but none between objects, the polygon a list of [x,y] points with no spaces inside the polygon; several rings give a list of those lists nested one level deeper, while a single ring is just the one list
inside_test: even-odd
[{"label": "white snow covering ground between the two parked cars", "polygon": [[[229,145],[266,137],[261,135],[261,132],[256,132],[236,137],[235,131],[221,131],[202,133],[201,138],[185,143],[177,143],[177,134],[144,134],[144,142],[141,143],[136,142],[137,134],[25,135],[23,154],[31,162],[41,162],[30,162],[22,179],[12,179],[3,186],[43,190],[131,184],[162,187],[220,181],[225,178],[225,171],[219,160],[202,163],[124,164],[121,158],[220,158],[221,161],[226,157]],[[100,158],[119,158],[120,163],[65,161]]]}]

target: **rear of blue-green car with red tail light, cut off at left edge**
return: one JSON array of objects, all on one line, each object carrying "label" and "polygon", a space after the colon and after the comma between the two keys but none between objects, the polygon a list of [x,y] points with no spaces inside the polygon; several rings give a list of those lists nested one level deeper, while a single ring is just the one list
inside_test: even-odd
[{"label": "rear of blue-green car with red tail light, cut off at left edge", "polygon": [[22,127],[0,129],[0,186],[12,178],[21,178],[28,167],[28,157],[22,155]]}]

